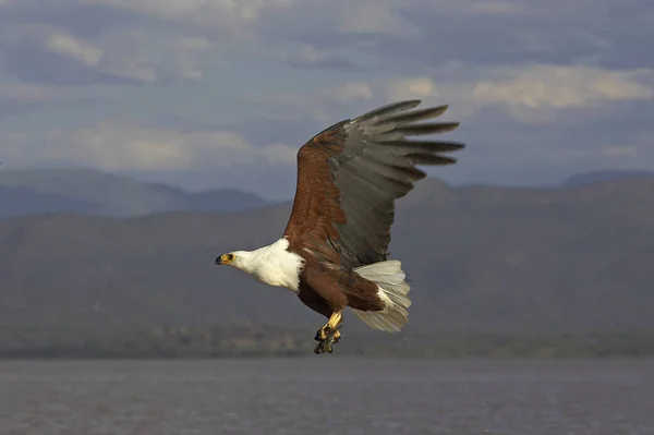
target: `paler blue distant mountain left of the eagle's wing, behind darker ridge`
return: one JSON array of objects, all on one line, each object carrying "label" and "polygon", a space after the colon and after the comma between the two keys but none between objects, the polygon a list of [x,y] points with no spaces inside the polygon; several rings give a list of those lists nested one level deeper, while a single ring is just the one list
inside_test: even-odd
[{"label": "paler blue distant mountain left of the eagle's wing, behind darker ridge", "polygon": [[51,212],[106,216],[234,212],[266,204],[255,194],[237,190],[194,193],[89,169],[0,170],[0,218]]}]

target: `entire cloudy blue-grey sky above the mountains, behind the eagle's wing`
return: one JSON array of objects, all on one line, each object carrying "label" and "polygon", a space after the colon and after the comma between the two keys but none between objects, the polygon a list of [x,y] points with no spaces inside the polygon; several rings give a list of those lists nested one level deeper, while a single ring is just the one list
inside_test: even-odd
[{"label": "entire cloudy blue-grey sky above the mountains, behind the eagle's wing", "polygon": [[0,168],[287,198],[315,133],[422,98],[449,183],[652,169],[652,40],[651,0],[0,0]]}]

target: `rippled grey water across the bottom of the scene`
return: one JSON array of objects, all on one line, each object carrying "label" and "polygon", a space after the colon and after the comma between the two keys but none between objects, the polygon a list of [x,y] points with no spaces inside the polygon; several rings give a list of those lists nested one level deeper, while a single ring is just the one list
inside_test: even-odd
[{"label": "rippled grey water across the bottom of the scene", "polygon": [[654,362],[0,362],[1,435],[654,434]]}]

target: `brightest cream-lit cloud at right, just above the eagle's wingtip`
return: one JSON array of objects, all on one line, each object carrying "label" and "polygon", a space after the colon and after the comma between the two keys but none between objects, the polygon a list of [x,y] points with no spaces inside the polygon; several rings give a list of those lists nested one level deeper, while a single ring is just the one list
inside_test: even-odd
[{"label": "brightest cream-lit cloud at right, just above the eagle's wingtip", "polygon": [[451,63],[431,76],[377,81],[372,94],[389,100],[422,98],[426,104],[447,104],[457,118],[495,106],[518,121],[543,124],[556,121],[566,109],[588,111],[606,109],[611,102],[652,100],[654,71],[556,64],[474,69]]}]

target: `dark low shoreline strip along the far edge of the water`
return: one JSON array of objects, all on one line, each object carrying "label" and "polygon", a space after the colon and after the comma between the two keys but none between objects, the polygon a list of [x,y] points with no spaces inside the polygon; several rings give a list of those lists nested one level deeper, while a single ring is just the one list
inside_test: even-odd
[{"label": "dark low shoreline strip along the far edge of the water", "polygon": [[[305,330],[244,327],[134,331],[112,337],[50,336],[0,342],[0,360],[211,360],[313,358]],[[654,334],[348,335],[335,357],[428,360],[642,360],[654,358]],[[329,357],[329,355],[328,355]]]}]

